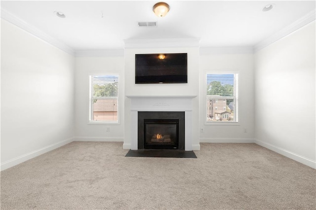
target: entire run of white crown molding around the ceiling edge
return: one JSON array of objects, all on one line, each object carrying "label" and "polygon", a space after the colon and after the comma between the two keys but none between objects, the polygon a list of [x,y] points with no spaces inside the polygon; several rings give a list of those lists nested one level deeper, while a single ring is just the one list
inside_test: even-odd
[{"label": "entire run of white crown molding around the ceiling edge", "polygon": [[[82,50],[75,51],[63,42],[43,33],[36,27],[28,24],[17,16],[11,14],[5,9],[1,8],[1,18],[13,25],[29,32],[32,35],[46,41],[47,43],[73,55],[76,57],[85,56],[123,56],[124,49],[107,49],[107,50]],[[200,55],[205,54],[237,54],[237,53],[254,53],[264,47],[274,43],[278,39],[289,35],[305,25],[316,20],[316,9],[309,12],[302,18],[293,22],[289,26],[278,31],[274,35],[260,41],[253,47],[202,47],[200,48]],[[199,47],[199,38],[157,38],[157,39],[124,39],[124,48],[161,48],[161,47]]]}]

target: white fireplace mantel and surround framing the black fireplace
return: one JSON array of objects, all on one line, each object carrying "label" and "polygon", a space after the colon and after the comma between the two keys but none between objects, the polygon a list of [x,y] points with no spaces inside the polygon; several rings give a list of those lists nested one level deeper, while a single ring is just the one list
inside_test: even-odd
[{"label": "white fireplace mantel and surround framing the black fireplace", "polygon": [[192,99],[197,96],[126,96],[131,99],[131,149],[138,149],[138,111],[184,111],[186,151],[192,151]]}]

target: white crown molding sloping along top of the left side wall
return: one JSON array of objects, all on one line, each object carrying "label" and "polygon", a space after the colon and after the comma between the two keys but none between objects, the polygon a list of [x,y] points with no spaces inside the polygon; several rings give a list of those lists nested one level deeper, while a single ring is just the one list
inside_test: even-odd
[{"label": "white crown molding sloping along top of the left side wall", "polygon": [[6,11],[3,8],[1,8],[1,18],[3,20],[6,20],[6,21],[12,23],[15,26],[23,29],[26,32],[29,32],[32,35],[37,36],[38,38],[46,41],[47,43],[65,51],[71,55],[75,55],[75,51],[71,47],[69,47],[66,44],[64,44],[63,42],[58,41],[57,39],[43,33],[42,31],[40,31],[36,27],[28,24],[27,22],[23,21],[22,19],[18,18],[15,15],[11,14],[10,12]]}]

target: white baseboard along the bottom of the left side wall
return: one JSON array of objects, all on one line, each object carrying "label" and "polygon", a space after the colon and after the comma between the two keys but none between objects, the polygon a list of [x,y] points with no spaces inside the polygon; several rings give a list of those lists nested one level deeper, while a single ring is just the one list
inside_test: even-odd
[{"label": "white baseboard along the bottom of the left side wall", "polygon": [[29,152],[29,153],[27,153],[25,155],[21,155],[19,157],[13,158],[11,160],[5,161],[5,162],[1,163],[0,171],[3,171],[5,169],[11,168],[13,166],[16,166],[16,165],[18,165],[20,163],[23,163],[23,162],[25,162],[27,160],[35,158],[35,157],[37,157],[37,156],[39,156],[41,154],[44,154],[46,152],[49,152],[51,150],[57,149],[58,147],[64,146],[64,145],[66,145],[68,143],[71,143],[72,141],[73,141],[73,138],[62,140],[62,141],[59,141],[57,143],[54,143],[54,144],[45,146],[43,148],[40,148],[38,150],[35,150],[33,152]]}]

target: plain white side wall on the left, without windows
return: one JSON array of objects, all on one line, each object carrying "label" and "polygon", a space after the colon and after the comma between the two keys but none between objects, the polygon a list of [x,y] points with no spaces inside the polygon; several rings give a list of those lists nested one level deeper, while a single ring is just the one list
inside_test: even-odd
[{"label": "plain white side wall on the left, without windows", "polygon": [[74,57],[1,19],[1,170],[72,141]]}]

